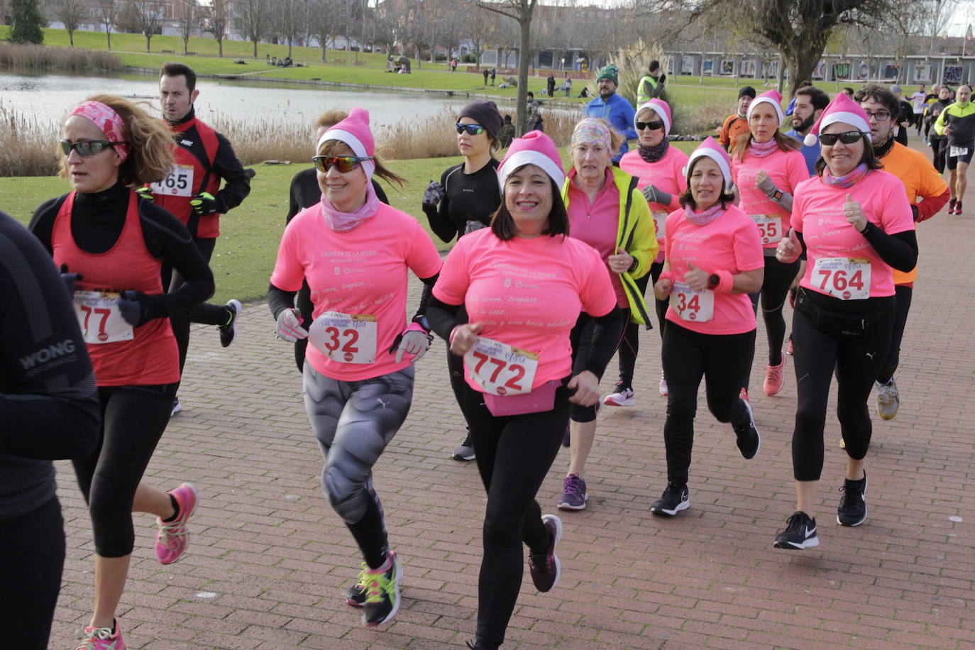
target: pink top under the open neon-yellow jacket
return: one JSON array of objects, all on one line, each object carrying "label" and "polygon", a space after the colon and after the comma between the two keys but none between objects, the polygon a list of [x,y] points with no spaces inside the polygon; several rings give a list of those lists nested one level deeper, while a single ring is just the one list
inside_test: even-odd
[{"label": "pink top under the open neon-yellow jacket", "polygon": [[[572,183],[575,170],[568,172],[568,228],[572,237],[581,240],[596,249],[607,264],[609,255],[616,252],[616,235],[619,231],[619,189],[616,187],[612,172],[606,170],[605,183],[596,200],[590,204],[589,195]],[[608,268],[608,265],[607,265]],[[616,305],[629,307],[630,300],[626,297],[626,290],[615,273],[609,274],[613,291],[616,293]]]}]

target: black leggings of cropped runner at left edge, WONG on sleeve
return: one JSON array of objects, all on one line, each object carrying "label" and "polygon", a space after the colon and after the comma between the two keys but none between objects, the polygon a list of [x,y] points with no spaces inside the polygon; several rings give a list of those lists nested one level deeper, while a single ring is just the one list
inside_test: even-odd
[{"label": "black leggings of cropped runner at left edge, WONG on sleeve", "polygon": [[4,617],[20,650],[45,650],[64,568],[64,520],[57,498],[0,521],[0,572],[7,585]]}]

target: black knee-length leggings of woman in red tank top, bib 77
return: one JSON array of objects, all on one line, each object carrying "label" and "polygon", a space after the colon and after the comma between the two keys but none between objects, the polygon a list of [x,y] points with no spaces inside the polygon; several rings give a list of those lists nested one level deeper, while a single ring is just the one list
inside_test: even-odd
[{"label": "black knee-length leggings of woman in red tank top, bib 77", "polygon": [[176,384],[98,388],[98,448],[72,463],[92,516],[95,552],[102,557],[132,553],[136,488],[170,421],[175,395]]}]

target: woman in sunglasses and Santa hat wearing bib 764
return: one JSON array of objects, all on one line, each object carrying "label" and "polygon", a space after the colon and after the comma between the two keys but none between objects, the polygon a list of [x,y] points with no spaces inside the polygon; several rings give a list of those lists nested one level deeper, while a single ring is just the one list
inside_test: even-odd
[{"label": "woman in sunglasses and Santa hat wearing bib 764", "polygon": [[814,503],[834,374],[847,455],[837,521],[858,526],[867,517],[864,458],[872,430],[867,400],[890,347],[896,312],[893,268],[910,271],[917,262],[914,215],[904,184],[879,171],[870,123],[860,105],[836,96],[809,139],[816,134],[822,148],[819,175],[797,188],[793,230],[776,252],[783,262],[806,260],[793,316],[796,376],[801,378],[793,432],[796,513],[774,543],[788,550],[819,544]]}]

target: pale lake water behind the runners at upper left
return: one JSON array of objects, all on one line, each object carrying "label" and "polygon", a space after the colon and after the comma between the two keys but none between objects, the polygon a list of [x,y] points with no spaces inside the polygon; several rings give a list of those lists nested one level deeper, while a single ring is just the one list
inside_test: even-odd
[{"label": "pale lake water behind the runners at upper left", "polygon": [[[373,127],[392,126],[432,116],[445,106],[459,111],[465,99],[421,94],[325,90],[307,84],[277,84],[204,79],[197,81],[197,115],[204,121],[213,111],[243,122],[280,116],[284,122],[310,125],[323,111],[355,106],[370,112]],[[32,116],[41,126],[59,125],[67,112],[87,96],[108,93],[149,100],[158,111],[158,78],[124,74],[114,77],[78,75],[0,74],[0,103],[8,110]],[[502,110],[504,110],[502,108]],[[509,109],[514,112],[513,109]]]}]

